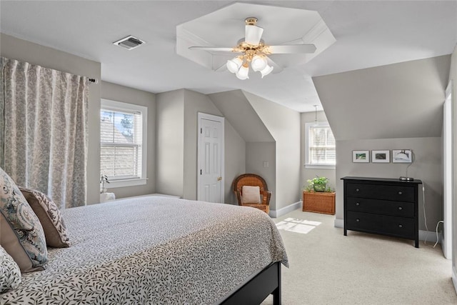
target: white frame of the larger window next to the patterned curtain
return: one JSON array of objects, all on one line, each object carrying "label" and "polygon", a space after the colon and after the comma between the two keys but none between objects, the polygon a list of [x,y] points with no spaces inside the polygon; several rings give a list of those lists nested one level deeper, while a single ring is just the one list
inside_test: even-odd
[{"label": "white frame of the larger window next to the patterned curtain", "polygon": [[[114,111],[126,111],[126,112],[141,112],[141,122],[142,122],[142,140],[141,140],[141,177],[134,179],[119,179],[111,180],[109,184],[105,184],[107,189],[114,189],[116,187],[124,186],[137,186],[146,184],[147,178],[147,139],[148,139],[148,108],[145,106],[140,106],[136,104],[124,103],[121,101],[112,101],[110,99],[101,99],[100,109],[114,110]],[[99,113],[100,115],[100,113]],[[100,121],[100,119],[99,119]],[[101,141],[100,141],[101,145]]]}]

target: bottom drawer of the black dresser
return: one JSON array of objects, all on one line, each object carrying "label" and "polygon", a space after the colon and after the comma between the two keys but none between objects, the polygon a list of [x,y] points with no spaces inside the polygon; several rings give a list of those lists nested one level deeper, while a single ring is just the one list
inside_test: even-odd
[{"label": "bottom drawer of the black dresser", "polygon": [[347,211],[348,230],[414,239],[414,219],[380,214]]}]

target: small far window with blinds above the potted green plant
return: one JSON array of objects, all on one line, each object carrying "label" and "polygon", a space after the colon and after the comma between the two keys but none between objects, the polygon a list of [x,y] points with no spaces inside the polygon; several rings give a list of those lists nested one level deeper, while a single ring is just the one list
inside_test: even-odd
[{"label": "small far window with blinds above the potted green plant", "polygon": [[335,138],[328,122],[306,123],[306,167],[334,169]]}]

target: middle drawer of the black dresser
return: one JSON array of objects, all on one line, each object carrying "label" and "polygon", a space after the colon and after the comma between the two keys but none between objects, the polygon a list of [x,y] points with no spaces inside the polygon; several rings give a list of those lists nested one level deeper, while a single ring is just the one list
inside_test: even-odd
[{"label": "middle drawer of the black dresser", "polygon": [[346,209],[348,211],[414,217],[413,202],[347,197]]}]

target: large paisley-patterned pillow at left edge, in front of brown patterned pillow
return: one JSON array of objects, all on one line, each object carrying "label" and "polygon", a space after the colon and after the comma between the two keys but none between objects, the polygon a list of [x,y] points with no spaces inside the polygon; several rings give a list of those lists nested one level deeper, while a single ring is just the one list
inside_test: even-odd
[{"label": "large paisley-patterned pillow at left edge, in front of brown patterned pillow", "polygon": [[23,273],[43,270],[48,261],[43,227],[8,174],[0,169],[0,245]]}]

